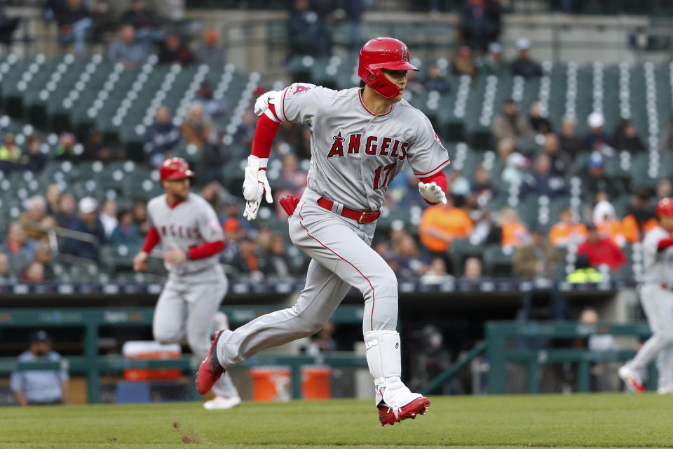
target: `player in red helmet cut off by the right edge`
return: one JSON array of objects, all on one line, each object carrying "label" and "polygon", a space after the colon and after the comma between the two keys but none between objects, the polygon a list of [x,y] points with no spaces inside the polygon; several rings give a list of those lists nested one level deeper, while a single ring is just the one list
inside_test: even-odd
[{"label": "player in red helmet cut off by the right edge", "polygon": [[639,393],[645,390],[640,373],[657,357],[658,392],[673,393],[673,199],[657,204],[659,226],[643,240],[643,309],[653,335],[630,363],[619,368],[619,377]]}]

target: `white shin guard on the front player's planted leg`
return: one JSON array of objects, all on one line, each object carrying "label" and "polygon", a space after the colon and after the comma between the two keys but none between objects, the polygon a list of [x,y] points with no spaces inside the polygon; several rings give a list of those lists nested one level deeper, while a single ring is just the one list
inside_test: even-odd
[{"label": "white shin guard on the front player's planted leg", "polygon": [[421,395],[402,383],[400,334],[394,330],[372,330],[365,334],[367,365],[374,376],[376,405],[383,401],[395,412]]}]

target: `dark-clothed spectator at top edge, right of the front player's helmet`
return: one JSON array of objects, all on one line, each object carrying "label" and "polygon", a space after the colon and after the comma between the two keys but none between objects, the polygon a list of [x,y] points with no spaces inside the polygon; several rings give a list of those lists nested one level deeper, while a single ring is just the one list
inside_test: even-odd
[{"label": "dark-clothed spectator at top edge, right of the front player's helmet", "polygon": [[500,2],[497,0],[465,0],[461,9],[463,43],[485,51],[497,41],[501,31]]}]

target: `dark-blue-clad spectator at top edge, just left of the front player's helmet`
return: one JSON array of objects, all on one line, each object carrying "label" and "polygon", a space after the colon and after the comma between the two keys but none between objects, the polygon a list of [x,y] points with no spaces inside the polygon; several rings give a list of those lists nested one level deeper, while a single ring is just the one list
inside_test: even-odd
[{"label": "dark-blue-clad spectator at top edge, just left of the front player's helmet", "polygon": [[315,11],[311,11],[308,0],[294,0],[287,19],[289,56],[310,55],[315,58],[332,53],[332,35],[327,24]]}]

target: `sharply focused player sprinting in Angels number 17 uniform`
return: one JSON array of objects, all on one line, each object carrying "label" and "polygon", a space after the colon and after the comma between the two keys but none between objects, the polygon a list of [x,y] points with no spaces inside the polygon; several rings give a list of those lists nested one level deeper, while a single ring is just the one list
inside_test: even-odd
[{"label": "sharply focused player sprinting in Angels number 17 uniform", "polygon": [[355,286],[365,297],[362,331],[374,376],[381,424],[423,415],[428,398],[412,393],[400,379],[397,279],[370,245],[388,184],[409,161],[428,203],[446,201],[449,163],[430,121],[402,100],[409,50],[397,39],[379,38],[360,51],[360,88],[332,91],[294,83],[261,95],[259,119],[243,182],[245,217],[253,220],[264,196],[271,203],[266,164],[283,121],[311,129],[311,168],[301,200],[280,204],[290,215],[290,238],[311,257],[306,287],[297,304],[260,316],[235,331],[217,333],[197,375],[208,391],[222,373],[261,349],[312,335],[327,323]]}]

